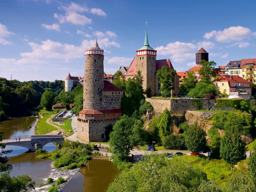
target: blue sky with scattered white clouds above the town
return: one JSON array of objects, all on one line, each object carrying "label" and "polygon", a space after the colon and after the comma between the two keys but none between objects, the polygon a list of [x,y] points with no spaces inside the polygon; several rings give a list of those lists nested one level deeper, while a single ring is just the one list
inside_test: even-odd
[{"label": "blue sky with scattered white clouds above the town", "polygon": [[85,49],[97,39],[104,71],[130,66],[144,45],[177,72],[196,65],[203,47],[209,60],[256,58],[256,1],[0,1],[0,77],[65,80],[84,76]]}]

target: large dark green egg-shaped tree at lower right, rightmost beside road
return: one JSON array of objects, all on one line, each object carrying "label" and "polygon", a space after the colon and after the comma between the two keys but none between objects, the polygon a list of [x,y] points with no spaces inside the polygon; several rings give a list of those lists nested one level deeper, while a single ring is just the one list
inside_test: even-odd
[{"label": "large dark green egg-shaped tree at lower right, rightmost beside road", "polygon": [[230,131],[225,131],[220,143],[220,157],[231,165],[231,170],[233,165],[246,159],[247,148],[245,146],[237,130],[231,128]]}]

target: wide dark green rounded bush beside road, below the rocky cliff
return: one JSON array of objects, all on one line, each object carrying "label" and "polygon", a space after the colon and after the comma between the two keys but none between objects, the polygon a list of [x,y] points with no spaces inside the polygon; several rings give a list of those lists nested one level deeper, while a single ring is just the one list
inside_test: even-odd
[{"label": "wide dark green rounded bush beside road, below the rocky cliff", "polygon": [[186,148],[183,135],[168,135],[163,138],[163,146],[165,149],[183,150]]}]

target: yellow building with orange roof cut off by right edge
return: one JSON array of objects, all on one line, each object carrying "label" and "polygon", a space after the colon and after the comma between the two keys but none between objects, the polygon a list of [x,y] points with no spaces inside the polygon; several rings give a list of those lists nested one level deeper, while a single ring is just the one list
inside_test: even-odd
[{"label": "yellow building with orange roof cut off by right edge", "polygon": [[256,59],[242,59],[242,77],[250,82],[256,82]]}]

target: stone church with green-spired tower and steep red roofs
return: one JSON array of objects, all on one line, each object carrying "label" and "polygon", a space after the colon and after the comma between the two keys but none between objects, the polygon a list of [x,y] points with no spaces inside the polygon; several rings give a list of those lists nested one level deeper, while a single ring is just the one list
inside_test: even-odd
[{"label": "stone church with green-spired tower and steep red roofs", "polygon": [[[170,59],[156,60],[156,50],[149,46],[148,33],[146,30],[144,46],[136,51],[136,57],[132,60],[132,63],[125,75],[125,80],[133,78],[137,75],[137,71],[141,71],[143,76],[143,89],[151,88],[151,96],[160,95],[161,84],[158,83],[158,77],[156,71],[161,69],[163,66],[167,66],[173,69]],[[174,78],[174,90],[172,90],[172,96],[180,94],[179,76]]]}]

